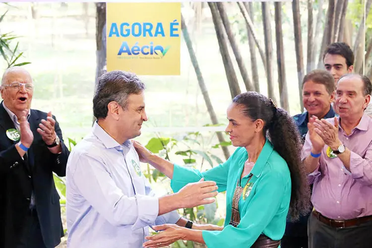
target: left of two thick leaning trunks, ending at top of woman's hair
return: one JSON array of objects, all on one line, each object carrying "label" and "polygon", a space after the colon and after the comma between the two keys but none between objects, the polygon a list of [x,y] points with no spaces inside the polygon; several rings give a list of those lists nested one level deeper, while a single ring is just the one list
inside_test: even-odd
[{"label": "left of two thick leaning trunks, ending at top of woman's hair", "polygon": [[222,61],[225,66],[225,72],[226,72],[227,81],[229,83],[231,98],[234,98],[235,96],[239,95],[241,91],[239,88],[237,75],[234,70],[234,65],[233,65],[233,62],[231,62],[231,58],[229,55],[229,50],[228,50],[227,42],[226,42],[226,36],[224,34],[224,30],[223,30],[222,23],[221,23],[221,17],[217,11],[217,6],[215,2],[208,2],[208,5],[212,13],[214,29],[216,30],[218,45],[220,47]]}]

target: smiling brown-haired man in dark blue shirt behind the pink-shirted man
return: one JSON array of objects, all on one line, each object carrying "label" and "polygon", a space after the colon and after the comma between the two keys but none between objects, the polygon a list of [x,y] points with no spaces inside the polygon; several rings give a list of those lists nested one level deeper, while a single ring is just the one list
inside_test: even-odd
[{"label": "smiling brown-haired man in dark blue shirt behind the pink-shirted man", "polygon": [[[334,91],[334,78],[326,70],[313,70],[304,77],[302,97],[306,111],[293,117],[299,127],[303,142],[308,132],[309,117],[316,116],[318,119],[326,119],[335,116],[331,106],[335,97]],[[309,215],[301,216],[298,222],[287,222],[286,231],[281,240],[281,248],[308,247]]]}]

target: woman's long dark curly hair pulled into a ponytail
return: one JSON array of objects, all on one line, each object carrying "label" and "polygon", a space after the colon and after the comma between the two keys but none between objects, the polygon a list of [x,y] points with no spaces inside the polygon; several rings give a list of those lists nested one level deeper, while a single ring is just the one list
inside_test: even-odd
[{"label": "woman's long dark curly hair pulled into a ponytail", "polygon": [[233,103],[243,105],[244,114],[252,121],[264,121],[263,135],[268,136],[274,149],[287,162],[291,173],[291,219],[305,215],[310,211],[310,189],[301,160],[301,136],[295,122],[287,111],[277,108],[271,99],[257,92],[242,93],[233,99]]}]

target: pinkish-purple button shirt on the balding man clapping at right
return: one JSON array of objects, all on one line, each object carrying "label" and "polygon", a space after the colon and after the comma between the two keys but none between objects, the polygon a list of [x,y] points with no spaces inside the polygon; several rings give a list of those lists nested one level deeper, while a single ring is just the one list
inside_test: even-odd
[{"label": "pinkish-purple button shirt on the balding man clapping at right", "polygon": [[[338,118],[339,119],[339,118]],[[334,124],[333,118],[326,119]],[[350,135],[339,126],[338,137],[351,151],[350,171],[339,158],[329,158],[325,145],[314,172],[311,202],[316,211],[334,220],[348,220],[372,215],[372,119],[363,115]],[[302,159],[311,151],[309,133],[302,149]]]}]

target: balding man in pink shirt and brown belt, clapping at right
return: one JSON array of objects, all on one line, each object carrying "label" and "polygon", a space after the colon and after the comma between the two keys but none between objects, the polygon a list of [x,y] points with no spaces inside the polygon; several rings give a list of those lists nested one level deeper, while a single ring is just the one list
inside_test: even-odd
[{"label": "balding man in pink shirt and brown belt, clapping at right", "polygon": [[309,248],[370,248],[372,119],[364,110],[372,85],[346,74],[336,88],[339,117],[311,117],[302,157],[313,183]]}]

